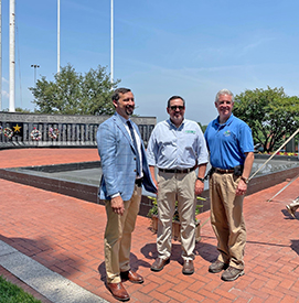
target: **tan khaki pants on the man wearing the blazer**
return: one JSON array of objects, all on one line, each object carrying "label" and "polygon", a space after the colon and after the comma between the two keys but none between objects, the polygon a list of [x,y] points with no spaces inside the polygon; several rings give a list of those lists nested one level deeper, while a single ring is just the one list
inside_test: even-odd
[{"label": "tan khaki pants on the man wearing the blazer", "polygon": [[129,201],[125,201],[124,215],[113,212],[110,201],[106,201],[107,225],[105,230],[105,266],[108,283],[119,283],[120,271],[130,269],[131,232],[141,201],[141,187],[135,185]]}]

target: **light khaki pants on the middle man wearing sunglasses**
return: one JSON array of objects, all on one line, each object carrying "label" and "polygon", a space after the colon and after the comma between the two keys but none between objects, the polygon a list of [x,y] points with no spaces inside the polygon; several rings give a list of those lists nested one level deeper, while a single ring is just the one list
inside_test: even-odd
[{"label": "light khaki pants on the middle man wearing sunglasses", "polygon": [[162,259],[171,255],[172,217],[178,201],[178,210],[181,221],[182,258],[194,259],[195,248],[195,172],[188,174],[163,173],[158,174],[158,235],[157,249]]}]

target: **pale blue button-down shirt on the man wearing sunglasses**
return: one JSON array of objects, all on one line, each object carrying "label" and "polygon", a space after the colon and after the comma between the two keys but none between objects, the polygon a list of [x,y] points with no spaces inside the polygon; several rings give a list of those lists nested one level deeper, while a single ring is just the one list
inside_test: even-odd
[{"label": "pale blue button-down shirt on the man wearing sunglasses", "polygon": [[149,165],[168,170],[190,169],[209,161],[201,128],[186,119],[179,128],[170,119],[159,122],[150,136],[147,155]]}]

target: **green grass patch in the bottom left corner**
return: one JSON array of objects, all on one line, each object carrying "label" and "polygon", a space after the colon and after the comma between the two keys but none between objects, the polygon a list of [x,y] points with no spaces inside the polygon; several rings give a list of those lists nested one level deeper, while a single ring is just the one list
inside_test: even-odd
[{"label": "green grass patch in the bottom left corner", "polygon": [[42,303],[0,275],[0,303]]}]

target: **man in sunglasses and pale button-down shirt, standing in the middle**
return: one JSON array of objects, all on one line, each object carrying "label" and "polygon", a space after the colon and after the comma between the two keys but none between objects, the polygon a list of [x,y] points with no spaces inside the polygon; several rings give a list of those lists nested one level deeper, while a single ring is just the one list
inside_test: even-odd
[{"label": "man in sunglasses and pale button-down shirt, standing in the middle", "polygon": [[[201,128],[184,119],[185,101],[180,96],[168,100],[170,118],[156,126],[148,144],[148,163],[158,188],[158,258],[151,266],[160,271],[171,255],[172,217],[178,202],[181,221],[182,258],[184,274],[194,272],[195,195],[204,190],[207,149]],[[158,167],[156,180],[154,166]],[[195,169],[199,167],[197,177]]]}]

